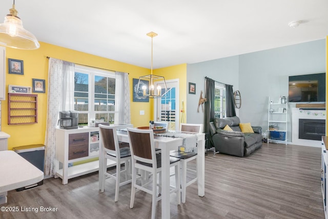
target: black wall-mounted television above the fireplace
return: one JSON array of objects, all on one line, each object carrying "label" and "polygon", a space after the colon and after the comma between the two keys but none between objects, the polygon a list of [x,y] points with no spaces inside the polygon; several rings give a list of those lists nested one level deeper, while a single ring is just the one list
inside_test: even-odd
[{"label": "black wall-mounted television above the fireplace", "polygon": [[289,102],[325,102],[326,74],[289,76]]}]

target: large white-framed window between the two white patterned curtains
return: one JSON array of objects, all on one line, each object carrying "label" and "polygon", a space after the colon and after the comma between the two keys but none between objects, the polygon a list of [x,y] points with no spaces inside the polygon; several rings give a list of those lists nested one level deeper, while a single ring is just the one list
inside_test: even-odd
[{"label": "large white-framed window between the two white patterned curtains", "polygon": [[75,66],[74,110],[78,111],[79,126],[88,125],[91,120],[113,124],[115,73]]}]

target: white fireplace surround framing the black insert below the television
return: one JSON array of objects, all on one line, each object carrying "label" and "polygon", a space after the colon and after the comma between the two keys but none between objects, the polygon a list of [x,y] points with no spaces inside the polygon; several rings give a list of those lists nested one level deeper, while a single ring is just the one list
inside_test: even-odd
[{"label": "white fireplace surround framing the black insert below the television", "polygon": [[311,147],[321,147],[321,141],[298,138],[298,121],[300,118],[308,119],[308,120],[325,120],[326,111],[315,110],[315,109],[308,110],[304,108],[292,108],[292,144],[311,146]]}]

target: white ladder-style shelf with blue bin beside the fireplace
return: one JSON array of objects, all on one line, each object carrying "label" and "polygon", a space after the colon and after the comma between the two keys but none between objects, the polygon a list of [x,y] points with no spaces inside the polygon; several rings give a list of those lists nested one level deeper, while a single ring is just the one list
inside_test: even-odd
[{"label": "white ladder-style shelf with blue bin beside the fireplace", "polygon": [[[269,96],[268,109],[268,143],[284,143],[287,145],[288,99],[285,103],[274,101]],[[274,129],[273,129],[274,127]]]}]

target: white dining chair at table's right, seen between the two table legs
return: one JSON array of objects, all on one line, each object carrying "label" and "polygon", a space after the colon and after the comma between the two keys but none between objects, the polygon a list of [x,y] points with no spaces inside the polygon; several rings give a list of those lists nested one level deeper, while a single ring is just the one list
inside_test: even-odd
[{"label": "white dining chair at table's right, seen between the two table legs", "polygon": [[[180,131],[186,132],[195,132],[195,133],[202,133],[203,132],[203,124],[187,124],[181,123],[180,124]],[[186,148],[180,147],[177,151],[172,151],[170,156],[179,158],[181,160],[181,199],[182,203],[186,202],[186,191],[187,187],[191,184],[197,182],[198,174],[197,174],[197,147],[193,149],[192,152],[186,152]],[[187,165],[188,162],[196,160],[196,170],[188,169]],[[192,180],[187,182],[187,170],[196,173],[196,177]]]}]

